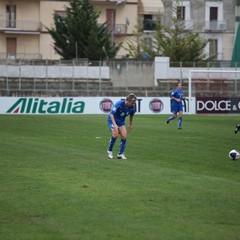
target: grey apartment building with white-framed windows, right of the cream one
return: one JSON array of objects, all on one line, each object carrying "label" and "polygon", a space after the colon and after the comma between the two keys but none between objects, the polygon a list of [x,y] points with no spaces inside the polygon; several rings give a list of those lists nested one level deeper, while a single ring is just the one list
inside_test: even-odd
[{"label": "grey apartment building with white-framed windows, right of the cream one", "polygon": [[235,42],[236,0],[162,0],[162,2],[165,8],[163,24],[171,26],[172,17],[176,17],[188,29],[210,39],[205,49],[207,56],[216,55],[220,61],[231,60]]}]

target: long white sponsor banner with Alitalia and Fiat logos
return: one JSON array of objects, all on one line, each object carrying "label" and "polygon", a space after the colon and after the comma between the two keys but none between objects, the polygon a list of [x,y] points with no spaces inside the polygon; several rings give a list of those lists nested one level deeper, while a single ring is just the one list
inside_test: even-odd
[{"label": "long white sponsor banner with Alitalia and Fiat logos", "polygon": [[[107,114],[120,99],[125,97],[0,97],[0,114]],[[189,113],[189,101],[183,104]],[[138,97],[136,106],[138,114],[171,113],[169,97]]]}]

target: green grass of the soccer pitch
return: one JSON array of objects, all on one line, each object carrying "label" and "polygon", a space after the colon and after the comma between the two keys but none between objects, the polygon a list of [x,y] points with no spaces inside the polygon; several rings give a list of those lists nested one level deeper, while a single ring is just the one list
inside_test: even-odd
[{"label": "green grass of the soccer pitch", "polygon": [[239,240],[239,117],[166,118],[109,160],[106,115],[0,115],[0,239]]}]

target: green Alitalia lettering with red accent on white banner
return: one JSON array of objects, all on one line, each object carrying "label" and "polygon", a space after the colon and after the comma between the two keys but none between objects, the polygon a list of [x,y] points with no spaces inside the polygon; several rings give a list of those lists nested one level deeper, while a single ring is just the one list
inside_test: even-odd
[{"label": "green Alitalia lettering with red accent on white banner", "polygon": [[85,102],[73,98],[19,98],[7,113],[26,114],[71,114],[83,113]]}]

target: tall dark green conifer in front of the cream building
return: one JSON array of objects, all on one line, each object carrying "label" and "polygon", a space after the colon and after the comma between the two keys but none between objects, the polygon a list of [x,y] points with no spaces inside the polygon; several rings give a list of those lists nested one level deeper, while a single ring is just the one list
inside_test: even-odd
[{"label": "tall dark green conifer in front of the cream building", "polygon": [[99,24],[100,13],[89,0],[71,0],[66,16],[54,14],[54,27],[47,28],[55,51],[65,60],[114,58],[121,47],[112,41],[106,23]]}]

